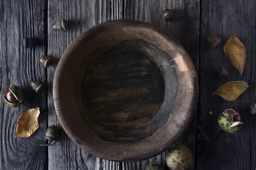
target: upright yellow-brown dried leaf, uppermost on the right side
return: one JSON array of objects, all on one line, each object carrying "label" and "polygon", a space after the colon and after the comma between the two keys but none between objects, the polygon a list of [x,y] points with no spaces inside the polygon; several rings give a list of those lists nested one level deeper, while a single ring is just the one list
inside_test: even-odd
[{"label": "upright yellow-brown dried leaf, uppermost on the right side", "polygon": [[224,51],[231,64],[242,74],[244,72],[246,59],[246,51],[243,43],[241,43],[235,35],[232,35],[224,46]]}]

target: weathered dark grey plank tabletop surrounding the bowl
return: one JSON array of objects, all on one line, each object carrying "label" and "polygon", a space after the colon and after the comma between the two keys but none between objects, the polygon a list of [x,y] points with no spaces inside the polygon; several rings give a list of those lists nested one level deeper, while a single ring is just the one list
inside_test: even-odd
[{"label": "weathered dark grey plank tabletop surrounding the bowl", "polygon": [[[166,8],[175,10],[175,23],[163,20]],[[61,54],[83,31],[118,19],[142,20],[169,32],[181,42],[194,62],[200,85],[198,111],[179,141],[192,150],[194,168],[255,170],[256,119],[249,115],[247,108],[248,102],[256,99],[255,11],[256,0],[1,0],[0,94],[14,83],[24,90],[25,102],[20,108],[10,109],[0,100],[0,170],[144,170],[147,164],[165,164],[165,153],[140,162],[99,159],[81,150],[63,130],[60,142],[49,147],[39,146],[47,142],[44,139],[47,126],[60,127],[53,104],[52,81]],[[52,31],[51,24],[60,19],[66,19],[70,29]],[[222,40],[218,48],[207,46],[205,36],[211,32]],[[247,49],[241,76],[223,51],[232,34]],[[36,38],[39,44],[24,49],[20,44],[24,37]],[[43,54],[54,58],[55,64],[48,69],[38,64],[38,57]],[[218,66],[228,70],[227,78],[215,76],[213,69]],[[29,86],[31,80],[48,82],[47,89],[36,94]],[[219,85],[238,80],[248,82],[251,87],[234,102],[212,96]],[[39,129],[29,138],[16,139],[17,118],[36,106],[47,110],[39,116]],[[223,133],[211,140],[218,130],[216,117],[227,108],[241,113],[244,129],[236,135]]]}]

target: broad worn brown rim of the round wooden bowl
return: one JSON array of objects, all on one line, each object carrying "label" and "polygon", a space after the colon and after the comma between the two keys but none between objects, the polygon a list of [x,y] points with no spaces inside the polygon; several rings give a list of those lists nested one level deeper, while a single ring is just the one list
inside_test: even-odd
[{"label": "broad worn brown rim of the round wooden bowl", "polygon": [[[91,132],[89,127],[87,125],[82,125],[82,120],[80,119],[80,114],[76,112],[74,109],[64,109],[65,107],[69,108],[75,108],[74,105],[72,106],[64,106],[65,103],[62,102],[67,102],[67,103],[72,103],[73,100],[71,99],[72,95],[67,94],[67,98],[61,99],[61,94],[66,91],[64,85],[64,78],[63,78],[63,72],[65,71],[65,61],[67,58],[70,57],[71,52],[76,49],[76,46],[79,44],[79,42],[88,35],[91,35],[93,33],[94,29],[100,28],[100,27],[116,27],[116,26],[125,26],[126,28],[145,28],[150,31],[153,31],[157,35],[160,36],[163,40],[168,41],[170,44],[175,44],[175,47],[177,48],[177,55],[173,57],[177,64],[177,74],[179,74],[181,77],[183,77],[182,80],[180,80],[182,85],[185,85],[185,82],[188,84],[186,85],[188,88],[181,88],[182,91],[180,91],[179,88],[179,95],[187,95],[186,96],[186,104],[182,104],[180,107],[184,107],[184,111],[181,112],[181,108],[178,108],[178,102],[183,101],[184,99],[181,100],[180,96],[177,96],[177,99],[175,98],[175,106],[176,110],[179,111],[178,113],[175,113],[176,117],[178,116],[177,114],[180,115],[180,122],[174,122],[171,120],[168,120],[168,125],[164,127],[164,130],[168,129],[170,127],[170,123],[175,124],[175,129],[178,133],[172,134],[172,137],[168,139],[168,141],[160,142],[160,143],[154,143],[154,141],[151,141],[151,136],[149,136],[145,141],[143,140],[142,142],[145,142],[145,145],[142,145],[140,143],[135,143],[132,145],[129,144],[110,144],[111,142],[105,142],[105,141],[99,141],[97,136],[87,139],[86,136],[81,136],[82,133],[88,133],[88,136],[93,134]],[[176,61],[177,59],[177,61]],[[67,68],[66,68],[67,70]],[[185,80],[186,77],[186,80]],[[67,82],[65,82],[67,83]],[[70,82],[71,83],[71,82]],[[71,93],[71,92],[70,92]],[[68,46],[68,48],[65,50],[63,53],[58,66],[55,71],[55,76],[54,76],[54,81],[53,81],[53,98],[54,98],[54,104],[55,104],[55,110],[56,114],[58,116],[58,119],[67,133],[67,135],[76,143],[78,144],[82,149],[86,150],[87,152],[96,155],[102,159],[108,159],[108,160],[113,160],[113,161],[140,161],[143,159],[148,159],[150,157],[156,156],[169,147],[171,147],[173,144],[177,142],[177,140],[185,133],[186,129],[189,127],[189,124],[192,121],[192,118],[194,116],[195,110],[196,110],[196,105],[198,101],[198,79],[197,79],[197,73],[195,71],[194,65],[192,63],[192,60],[186,53],[185,49],[180,45],[175,38],[173,38],[170,34],[167,34],[163,31],[161,31],[159,28],[156,28],[152,26],[149,23],[145,23],[142,21],[137,21],[137,20],[114,20],[114,21],[108,21],[105,23],[101,23],[97,26],[94,26],[87,31],[83,32],[79,37],[77,37],[73,42]],[[177,100],[177,101],[176,101]],[[177,102],[177,103],[176,103]],[[180,104],[180,103],[179,103]],[[71,104],[70,104],[71,105]],[[174,111],[176,111],[174,110]],[[70,112],[73,112],[73,116],[70,116]],[[173,112],[174,112],[173,111]],[[173,113],[171,112],[171,113]],[[170,114],[171,115],[171,114]],[[75,116],[75,117],[74,117]],[[172,122],[171,122],[172,121]],[[166,123],[167,124],[167,123]],[[82,132],[81,128],[79,128],[79,125],[85,126],[86,132]],[[161,127],[162,128],[162,127]],[[160,129],[161,129],[160,128]],[[170,130],[170,129],[169,129]],[[160,134],[160,132],[157,132],[156,134]],[[170,133],[170,132],[166,132]],[[94,134],[95,135],[95,134]],[[152,135],[153,136],[153,135]],[[94,141],[95,140],[95,141]],[[102,143],[101,143],[102,142]],[[92,144],[94,143],[94,144]],[[97,145],[97,148],[95,148]],[[136,146],[135,146],[136,145]],[[116,146],[115,148],[111,148],[110,146]],[[94,147],[94,148],[92,148]],[[116,149],[113,151],[113,149]],[[129,153],[131,149],[137,150],[139,153]],[[140,150],[143,150],[143,154],[140,153]],[[111,153],[109,153],[111,152]],[[113,152],[113,153],[112,153]]]}]

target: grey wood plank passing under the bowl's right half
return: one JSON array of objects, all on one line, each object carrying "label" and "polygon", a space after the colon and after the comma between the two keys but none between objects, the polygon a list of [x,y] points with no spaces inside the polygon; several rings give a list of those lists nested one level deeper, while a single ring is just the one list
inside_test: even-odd
[{"label": "grey wood plank passing under the bowl's right half", "polygon": [[[125,19],[142,20],[151,23],[174,36],[188,52],[196,70],[198,70],[199,0],[186,2],[182,0],[125,0],[124,7]],[[164,21],[163,10],[166,8],[175,10],[175,23]],[[193,155],[195,155],[195,125],[196,116],[183,138],[179,141],[179,143],[188,146]],[[165,153],[145,161],[122,163],[122,168],[124,170],[144,170],[148,164],[165,165]]]}]

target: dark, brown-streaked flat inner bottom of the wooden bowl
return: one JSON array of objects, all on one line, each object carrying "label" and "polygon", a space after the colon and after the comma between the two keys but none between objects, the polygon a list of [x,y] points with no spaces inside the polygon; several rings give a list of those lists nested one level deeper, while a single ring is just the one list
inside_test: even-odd
[{"label": "dark, brown-streaked flat inner bottom of the wooden bowl", "polygon": [[80,114],[109,142],[141,140],[137,130],[156,119],[164,98],[163,75],[157,64],[140,46],[134,49],[122,43],[96,56],[81,82],[87,112]]}]

